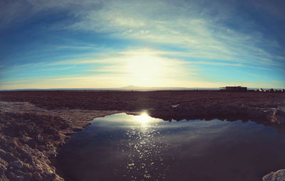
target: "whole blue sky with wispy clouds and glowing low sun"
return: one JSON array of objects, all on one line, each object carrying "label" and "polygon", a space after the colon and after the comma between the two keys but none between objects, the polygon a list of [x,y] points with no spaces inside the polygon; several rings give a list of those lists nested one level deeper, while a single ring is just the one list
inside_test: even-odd
[{"label": "whole blue sky with wispy clouds and glowing low sun", "polygon": [[283,0],[3,0],[0,90],[285,88]]}]

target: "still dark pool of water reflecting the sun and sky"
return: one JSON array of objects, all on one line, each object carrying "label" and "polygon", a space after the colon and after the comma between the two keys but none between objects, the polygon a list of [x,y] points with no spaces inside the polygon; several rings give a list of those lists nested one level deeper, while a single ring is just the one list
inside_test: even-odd
[{"label": "still dark pool of water reflecting the sun and sky", "polygon": [[95,118],[63,146],[66,180],[254,181],[285,168],[285,135],[252,121]]}]

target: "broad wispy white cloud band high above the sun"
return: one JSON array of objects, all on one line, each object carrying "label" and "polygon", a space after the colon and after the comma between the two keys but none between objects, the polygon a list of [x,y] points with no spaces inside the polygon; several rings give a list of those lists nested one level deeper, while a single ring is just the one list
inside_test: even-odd
[{"label": "broad wispy white cloud band high above the sun", "polygon": [[[169,1],[144,1],[143,4],[137,1],[108,1],[100,9],[77,14],[81,21],[68,28],[111,33],[117,38],[172,44],[187,48],[187,51],[199,57],[204,53],[223,54],[228,59],[244,55],[247,61],[263,57],[259,63],[274,63],[269,59],[272,55],[257,46],[260,42],[269,41],[260,32],[241,33],[229,29],[219,23],[221,16],[209,16],[207,11],[211,9],[199,12],[200,7],[197,8],[195,1],[190,1],[185,7],[175,5]],[[254,25],[247,23],[247,26]],[[271,45],[274,45],[271,41],[266,43],[269,48]]]}]

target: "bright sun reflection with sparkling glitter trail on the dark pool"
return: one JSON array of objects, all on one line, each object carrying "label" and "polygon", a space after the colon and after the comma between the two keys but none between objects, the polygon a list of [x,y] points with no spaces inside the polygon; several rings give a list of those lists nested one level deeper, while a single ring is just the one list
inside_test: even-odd
[{"label": "bright sun reflection with sparkling glitter trail on the dark pool", "polygon": [[[165,180],[170,166],[165,164],[163,152],[167,150],[167,143],[160,140],[160,127],[156,118],[146,112],[133,116],[135,124],[128,130],[126,143],[129,150],[128,160],[123,165],[125,180]],[[165,139],[165,138],[163,138]]]}]

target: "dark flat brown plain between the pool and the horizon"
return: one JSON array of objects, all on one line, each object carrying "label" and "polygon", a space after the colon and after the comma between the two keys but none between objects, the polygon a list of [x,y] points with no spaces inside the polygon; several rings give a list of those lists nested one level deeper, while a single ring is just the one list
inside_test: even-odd
[{"label": "dark flat brown plain between the pool and the horizon", "polygon": [[[185,118],[264,118],[285,105],[285,93],[220,91],[20,91],[0,100],[29,102],[47,109],[148,110],[165,120]],[[269,112],[269,113],[267,113]],[[269,118],[270,119],[270,118]]]}]

